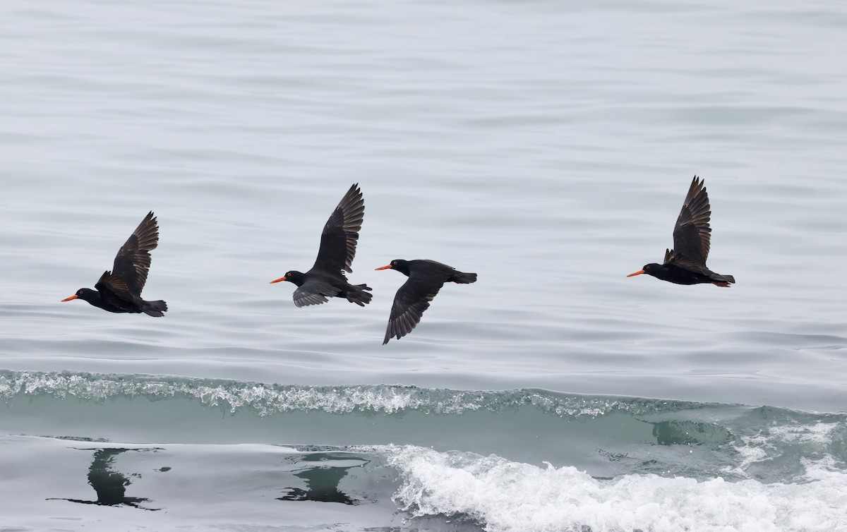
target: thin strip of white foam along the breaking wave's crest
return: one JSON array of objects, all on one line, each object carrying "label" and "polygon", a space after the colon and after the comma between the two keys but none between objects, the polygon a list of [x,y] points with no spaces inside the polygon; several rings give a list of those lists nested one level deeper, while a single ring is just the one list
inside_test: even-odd
[{"label": "thin strip of white foam along the breaking wave's crest", "polygon": [[0,399],[18,394],[48,394],[102,401],[107,398],[193,397],[210,407],[235,412],[251,408],[259,415],[320,410],[327,413],[465,413],[532,406],[561,417],[597,417],[614,411],[654,412],[663,407],[696,407],[639,398],[564,396],[545,391],[462,391],[401,385],[305,386],[257,382],[200,380],[151,375],[84,374],[71,372],[0,372]]}]

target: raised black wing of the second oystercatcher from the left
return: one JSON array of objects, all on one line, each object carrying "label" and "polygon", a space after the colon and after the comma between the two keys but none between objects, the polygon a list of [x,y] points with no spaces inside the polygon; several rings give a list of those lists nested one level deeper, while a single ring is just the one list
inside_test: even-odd
[{"label": "raised black wing of the second oystercatcher from the left", "polygon": [[356,243],[362,220],[365,215],[365,202],[358,184],[341,198],[338,207],[329,215],[320,236],[318,258],[313,269],[337,274],[342,269],[352,273],[351,264],[356,256]]}]

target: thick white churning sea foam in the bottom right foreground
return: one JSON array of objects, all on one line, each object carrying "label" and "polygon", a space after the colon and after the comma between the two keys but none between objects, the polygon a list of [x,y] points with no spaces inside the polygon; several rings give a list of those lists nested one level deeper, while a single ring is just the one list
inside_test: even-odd
[{"label": "thick white churning sea foam in the bottom right foreground", "polygon": [[811,464],[799,484],[655,474],[595,479],[494,455],[382,449],[403,479],[395,501],[416,516],[465,515],[489,532],[847,530],[847,474]]}]

